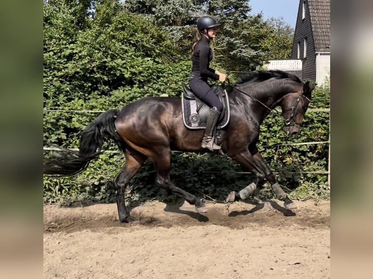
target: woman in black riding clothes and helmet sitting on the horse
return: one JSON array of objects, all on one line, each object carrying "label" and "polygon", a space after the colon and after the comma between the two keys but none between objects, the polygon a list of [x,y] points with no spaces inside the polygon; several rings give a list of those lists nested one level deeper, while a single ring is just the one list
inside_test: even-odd
[{"label": "woman in black riding clothes and helmet sitting on the horse", "polygon": [[202,102],[211,108],[206,121],[205,136],[201,144],[202,148],[210,150],[221,149],[219,145],[214,144],[212,135],[222,112],[223,104],[207,84],[207,78],[224,82],[226,77],[224,73],[209,67],[213,58],[213,51],[209,43],[210,39],[215,37],[216,27],[219,25],[212,17],[200,17],[197,21],[196,39],[191,49],[192,71],[189,77],[189,87]]}]

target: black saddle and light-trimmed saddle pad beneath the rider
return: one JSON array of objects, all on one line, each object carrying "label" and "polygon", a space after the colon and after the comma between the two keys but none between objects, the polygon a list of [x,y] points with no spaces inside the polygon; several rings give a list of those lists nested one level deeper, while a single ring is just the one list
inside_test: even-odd
[{"label": "black saddle and light-trimmed saddle pad beneath the rider", "polygon": [[[188,129],[205,129],[207,117],[210,114],[210,107],[198,99],[184,82],[182,82],[182,85],[184,92],[181,97],[181,105],[184,125]],[[214,86],[211,90],[215,92],[223,104],[223,110],[216,125],[216,129],[222,129],[228,125],[230,120],[229,97],[226,90],[222,87]]]}]

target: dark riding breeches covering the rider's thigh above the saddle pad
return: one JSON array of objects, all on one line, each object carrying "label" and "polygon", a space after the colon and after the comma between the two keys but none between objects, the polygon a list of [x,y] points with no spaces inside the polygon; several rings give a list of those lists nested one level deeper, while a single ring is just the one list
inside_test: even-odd
[{"label": "dark riding breeches covering the rider's thigh above the saddle pad", "polygon": [[208,105],[210,108],[215,106],[220,112],[223,110],[223,104],[220,102],[218,96],[216,96],[214,90],[201,79],[200,75],[191,75],[189,77],[189,87],[192,89],[193,93]]}]

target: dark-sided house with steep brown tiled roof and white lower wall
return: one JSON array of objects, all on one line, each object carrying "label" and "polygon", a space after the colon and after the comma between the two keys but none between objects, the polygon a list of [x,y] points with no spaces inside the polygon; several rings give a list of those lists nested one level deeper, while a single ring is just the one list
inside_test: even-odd
[{"label": "dark-sided house with steep brown tiled roof and white lower wall", "polygon": [[302,76],[318,85],[330,73],[330,0],[300,0],[292,59],[301,59]]}]

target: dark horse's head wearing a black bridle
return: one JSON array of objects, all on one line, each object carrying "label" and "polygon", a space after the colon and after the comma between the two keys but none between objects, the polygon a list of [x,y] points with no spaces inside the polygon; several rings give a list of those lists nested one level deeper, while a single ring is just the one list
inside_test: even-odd
[{"label": "dark horse's head wearing a black bridle", "polygon": [[282,99],[282,116],[285,120],[283,130],[287,136],[292,137],[299,132],[300,123],[311,102],[311,93],[315,86],[307,81],[297,92],[286,94]]}]

